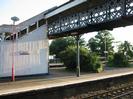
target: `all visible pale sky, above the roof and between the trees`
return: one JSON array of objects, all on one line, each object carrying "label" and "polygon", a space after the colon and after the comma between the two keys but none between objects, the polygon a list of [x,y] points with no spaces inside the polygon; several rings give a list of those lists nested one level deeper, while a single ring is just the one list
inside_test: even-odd
[{"label": "all visible pale sky, above the roof and between the trees", "polygon": [[[12,24],[11,17],[19,17],[20,22],[27,20],[49,8],[59,6],[69,0],[0,0],[0,25]],[[110,31],[115,41],[129,41],[133,44],[133,26],[116,28]],[[83,35],[86,41],[97,32]]]}]

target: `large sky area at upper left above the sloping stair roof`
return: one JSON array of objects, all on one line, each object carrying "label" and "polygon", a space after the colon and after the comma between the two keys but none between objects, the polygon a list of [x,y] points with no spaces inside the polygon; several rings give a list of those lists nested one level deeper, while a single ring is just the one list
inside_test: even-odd
[{"label": "large sky area at upper left above the sloping stair roof", "polygon": [[19,17],[19,22],[22,22],[67,1],[68,0],[0,0],[0,25],[12,24],[12,16]]}]

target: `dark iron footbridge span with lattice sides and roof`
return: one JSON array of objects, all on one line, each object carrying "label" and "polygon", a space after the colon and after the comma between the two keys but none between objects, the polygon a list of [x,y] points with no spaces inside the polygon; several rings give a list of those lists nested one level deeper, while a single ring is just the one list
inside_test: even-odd
[{"label": "dark iron footbridge span with lattice sides and roof", "polygon": [[[57,12],[76,1],[82,0],[71,0],[57,8]],[[133,24],[133,0],[83,0],[57,14],[52,13],[46,15],[49,38],[112,30]]]}]

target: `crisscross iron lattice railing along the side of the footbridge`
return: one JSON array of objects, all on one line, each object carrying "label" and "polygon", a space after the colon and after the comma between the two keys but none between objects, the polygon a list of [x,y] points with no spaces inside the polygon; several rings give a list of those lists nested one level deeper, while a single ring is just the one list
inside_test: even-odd
[{"label": "crisscross iron lattice railing along the side of the footbridge", "polygon": [[89,25],[133,15],[133,0],[106,0],[105,4],[48,23],[48,35],[60,34]]}]

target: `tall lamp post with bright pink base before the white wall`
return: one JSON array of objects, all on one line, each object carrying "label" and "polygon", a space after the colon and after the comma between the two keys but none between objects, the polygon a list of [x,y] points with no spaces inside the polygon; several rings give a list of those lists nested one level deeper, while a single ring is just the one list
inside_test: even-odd
[{"label": "tall lamp post with bright pink base before the white wall", "polygon": [[14,17],[11,17],[11,20],[13,21],[13,33],[12,33],[12,36],[13,36],[13,40],[12,40],[12,81],[15,81],[15,68],[14,68],[14,34],[15,34],[15,22],[16,21],[19,21],[19,18],[14,16]]}]

